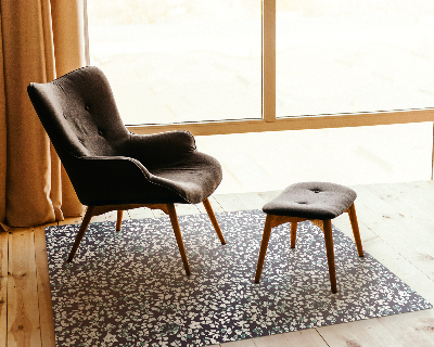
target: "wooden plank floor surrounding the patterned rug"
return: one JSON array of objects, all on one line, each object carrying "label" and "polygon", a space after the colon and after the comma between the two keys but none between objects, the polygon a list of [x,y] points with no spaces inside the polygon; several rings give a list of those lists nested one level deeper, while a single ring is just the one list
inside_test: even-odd
[{"label": "wooden plank floor surrounding the patterned rug", "polygon": [[[366,252],[434,303],[434,183],[419,181],[353,187]],[[257,209],[278,192],[219,194],[216,213]],[[178,215],[205,213],[178,206]],[[130,210],[124,218],[159,217],[158,211]],[[114,214],[94,219],[114,220]],[[69,219],[62,223],[77,223]],[[352,236],[347,216],[334,226]],[[225,231],[224,231],[225,232]],[[187,249],[188,253],[188,249]],[[181,260],[180,260],[181,261]],[[43,227],[0,233],[0,347],[54,346]],[[194,271],[194,270],[193,270]],[[265,346],[434,346],[434,310],[221,344]]]}]

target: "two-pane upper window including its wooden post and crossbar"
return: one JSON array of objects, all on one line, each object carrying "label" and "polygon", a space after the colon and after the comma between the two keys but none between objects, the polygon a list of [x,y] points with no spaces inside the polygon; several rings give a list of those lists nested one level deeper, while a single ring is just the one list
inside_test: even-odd
[{"label": "two-pane upper window including its wooden post and crossbar", "polygon": [[91,64],[136,132],[434,119],[431,0],[87,3]]}]

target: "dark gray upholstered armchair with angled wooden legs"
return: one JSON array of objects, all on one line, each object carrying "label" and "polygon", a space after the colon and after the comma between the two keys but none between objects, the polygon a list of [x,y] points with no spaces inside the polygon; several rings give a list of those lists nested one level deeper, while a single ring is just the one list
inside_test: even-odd
[{"label": "dark gray upholstered armchair with angled wooden legs", "polygon": [[143,206],[169,215],[187,274],[190,269],[174,204],[203,203],[225,244],[208,202],[221,181],[221,167],[196,151],[190,132],[129,132],[106,77],[94,66],[48,83],[30,83],[27,92],[78,198],[88,206],[68,261],[92,216],[117,210],[120,230],[123,210]]}]

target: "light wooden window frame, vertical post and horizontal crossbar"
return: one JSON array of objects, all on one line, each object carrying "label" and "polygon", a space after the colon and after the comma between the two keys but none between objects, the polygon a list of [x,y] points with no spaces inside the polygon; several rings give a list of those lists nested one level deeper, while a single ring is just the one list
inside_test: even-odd
[{"label": "light wooden window frame, vertical post and horizontal crossbar", "polygon": [[[87,0],[85,7],[85,49],[89,65],[89,31]],[[179,124],[143,124],[128,126],[135,133],[155,133],[169,130],[188,130],[194,136],[230,134],[243,132],[283,131],[342,127],[361,127],[434,120],[434,107],[386,112],[341,113],[297,117],[276,117],[276,0],[261,0],[263,13],[263,110],[261,119],[213,120]]]}]

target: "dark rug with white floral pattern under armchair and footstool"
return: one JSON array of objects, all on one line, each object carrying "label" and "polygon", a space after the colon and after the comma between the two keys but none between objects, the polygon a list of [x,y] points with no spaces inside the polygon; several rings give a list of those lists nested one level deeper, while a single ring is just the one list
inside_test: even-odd
[{"label": "dark rug with white floral pattern under armchair and footstool", "polygon": [[46,228],[56,346],[204,346],[432,308],[333,228],[337,294],[330,291],[323,234],[298,223],[271,232],[254,283],[266,215],[179,217],[192,274],[184,274],[168,217],[95,222],[72,264],[79,226]]}]

